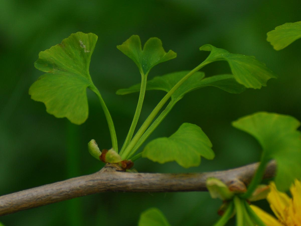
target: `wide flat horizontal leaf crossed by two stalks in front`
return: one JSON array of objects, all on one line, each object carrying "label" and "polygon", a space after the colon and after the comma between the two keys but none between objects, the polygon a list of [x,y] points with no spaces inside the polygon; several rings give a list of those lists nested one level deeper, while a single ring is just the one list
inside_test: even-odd
[{"label": "wide flat horizontal leaf crossed by two stalks in front", "polygon": [[[179,80],[181,80],[189,71],[179,71],[162,76],[154,77],[147,81],[147,90],[163,90],[169,92]],[[204,78],[203,72],[196,72],[189,77],[171,96],[172,100],[178,101],[183,98],[186,93],[205,86],[215,86],[229,93],[241,93],[245,87],[236,82],[231,74],[221,74],[212,77]],[[119,89],[116,94],[124,95],[128,93],[139,92],[141,84],[136,84],[127,89]]]}]

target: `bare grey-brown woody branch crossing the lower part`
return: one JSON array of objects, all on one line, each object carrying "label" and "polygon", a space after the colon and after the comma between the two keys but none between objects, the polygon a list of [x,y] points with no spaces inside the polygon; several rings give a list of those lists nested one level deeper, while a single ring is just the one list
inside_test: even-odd
[{"label": "bare grey-brown woody branch crossing the lower part", "polygon": [[[206,191],[206,179],[216,177],[229,187],[245,188],[258,163],[225,171],[186,174],[127,173],[116,165],[81,177],[0,196],[0,216],[100,192]],[[268,164],[264,178],[271,178],[276,163]]]}]

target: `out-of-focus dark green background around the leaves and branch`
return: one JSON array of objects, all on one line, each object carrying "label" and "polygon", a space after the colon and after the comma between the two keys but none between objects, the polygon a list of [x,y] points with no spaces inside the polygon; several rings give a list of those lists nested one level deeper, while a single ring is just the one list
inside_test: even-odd
[{"label": "out-of-focus dark green background around the leaves and branch", "polygon": [[[238,95],[212,87],[189,93],[151,136],[170,136],[183,122],[197,124],[213,143],[213,161],[203,159],[200,167],[184,169],[175,163],[139,159],[135,168],[139,172],[201,172],[258,161],[259,144],[232,128],[231,121],[256,111],[301,120],[301,41],[279,52],[266,41],[266,33],[276,26],[301,20],[300,6],[298,0],[0,0],[0,195],[90,174],[103,166],[87,151],[91,139],[101,149],[111,147],[104,114],[92,92],[88,91],[89,118],[80,126],[47,114],[45,105],[28,95],[29,86],[43,74],[33,66],[38,53],[77,31],[98,35],[90,74],[111,112],[119,146],[138,94],[117,96],[115,92],[138,83],[140,74],[116,45],[132,34],[139,35],[142,43],[156,36],[166,51],[178,54],[154,67],[149,79],[194,68],[208,55],[198,50],[203,44],[254,55],[266,63],[279,75],[267,87]],[[225,61],[203,71],[206,76],[230,72]],[[164,94],[147,92],[141,119]],[[102,193],[3,216],[0,221],[6,226],[136,225],[142,211],[157,207],[173,226],[211,225],[220,204],[201,192]]]}]

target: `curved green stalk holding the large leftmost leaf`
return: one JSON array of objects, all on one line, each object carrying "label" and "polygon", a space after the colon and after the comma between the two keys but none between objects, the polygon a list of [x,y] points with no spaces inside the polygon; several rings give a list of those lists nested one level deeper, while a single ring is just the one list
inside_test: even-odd
[{"label": "curved green stalk holding the large leftmost leaf", "polygon": [[101,107],[104,111],[104,115],[107,119],[107,123],[108,123],[108,126],[109,126],[111,140],[112,140],[112,147],[118,153],[118,144],[117,144],[116,131],[115,131],[115,128],[114,128],[114,123],[113,123],[112,117],[110,115],[110,112],[109,112],[106,104],[104,103],[104,100],[102,99],[98,89],[94,85],[91,85],[90,88],[98,96],[100,105],[101,105]]}]

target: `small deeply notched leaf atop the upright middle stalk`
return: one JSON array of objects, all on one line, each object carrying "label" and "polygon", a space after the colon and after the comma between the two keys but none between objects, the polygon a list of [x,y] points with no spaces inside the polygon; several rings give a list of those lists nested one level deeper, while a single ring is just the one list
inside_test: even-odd
[{"label": "small deeply notched leaf atop the upright middle stalk", "polygon": [[177,56],[172,50],[166,53],[161,40],[158,38],[148,39],[142,49],[138,35],[132,35],[122,45],[117,46],[117,49],[131,58],[139,68],[140,73],[144,75],[147,75],[155,65]]}]

